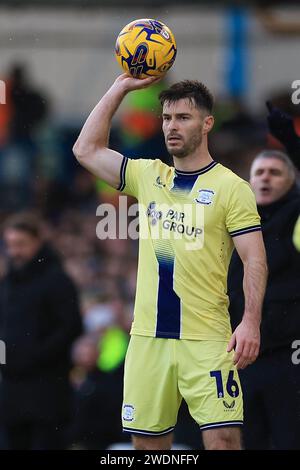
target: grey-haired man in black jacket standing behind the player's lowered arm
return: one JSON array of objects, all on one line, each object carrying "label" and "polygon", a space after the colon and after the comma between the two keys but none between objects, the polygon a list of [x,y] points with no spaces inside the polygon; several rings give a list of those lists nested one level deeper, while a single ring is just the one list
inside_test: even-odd
[{"label": "grey-haired man in black jacket standing behind the player's lowered arm", "polygon": [[[286,154],[268,150],[251,168],[267,252],[269,280],[261,324],[261,349],[241,371],[246,449],[300,449],[300,366],[292,343],[300,339],[300,253],[293,232],[300,211],[295,170]],[[243,270],[233,254],[228,291],[235,328],[243,314]]]}]

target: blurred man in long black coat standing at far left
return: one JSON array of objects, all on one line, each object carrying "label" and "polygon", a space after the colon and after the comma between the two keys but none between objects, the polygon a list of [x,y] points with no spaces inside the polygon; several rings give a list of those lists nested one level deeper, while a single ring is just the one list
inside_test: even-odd
[{"label": "blurred man in long black coat standing at far left", "polygon": [[4,228],[9,259],[0,283],[0,423],[8,449],[63,448],[70,417],[70,348],[81,333],[76,289],[33,216]]}]

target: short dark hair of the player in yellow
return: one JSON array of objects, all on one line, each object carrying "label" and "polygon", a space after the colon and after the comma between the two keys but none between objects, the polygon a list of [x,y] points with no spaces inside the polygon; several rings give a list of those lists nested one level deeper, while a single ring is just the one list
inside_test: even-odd
[{"label": "short dark hair of the player in yellow", "polygon": [[203,83],[197,80],[182,80],[159,94],[162,106],[165,102],[174,103],[184,98],[189,99],[197,108],[211,114],[214,104],[213,95]]}]

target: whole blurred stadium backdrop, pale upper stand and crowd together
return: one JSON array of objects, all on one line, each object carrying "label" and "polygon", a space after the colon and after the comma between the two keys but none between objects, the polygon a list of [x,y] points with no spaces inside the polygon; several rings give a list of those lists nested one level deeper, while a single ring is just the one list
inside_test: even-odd
[{"label": "whole blurred stadium backdrop, pale upper stand and crowd together", "polygon": [[[0,105],[0,221],[21,210],[41,214],[45,237],[60,252],[80,292],[85,334],[73,351],[76,393],[91,370],[103,372],[93,395],[98,424],[89,422],[92,417],[84,410],[76,413],[71,448],[104,448],[122,439],[118,424],[112,424],[109,437],[99,422],[109,422],[108,402],[118,414],[137,242],[96,237],[97,207],[103,202],[117,207],[118,194],[81,169],[71,152],[85,117],[120,73],[114,59],[118,32],[135,18],[158,18],[170,26],[178,55],[166,80],[199,79],[213,91],[211,153],[242,177],[248,178],[260,149],[280,148],[268,132],[266,100],[292,114],[300,131],[300,109],[291,102],[291,85],[300,80],[296,2],[174,4],[0,3],[0,79],[7,92],[6,104]],[[25,110],[10,100],[16,76],[27,92]],[[131,157],[167,160],[156,101],[160,86],[126,99],[113,123],[113,148]],[[3,276],[3,244],[0,249]],[[197,430],[184,411],[179,424],[176,441],[196,446]]]}]

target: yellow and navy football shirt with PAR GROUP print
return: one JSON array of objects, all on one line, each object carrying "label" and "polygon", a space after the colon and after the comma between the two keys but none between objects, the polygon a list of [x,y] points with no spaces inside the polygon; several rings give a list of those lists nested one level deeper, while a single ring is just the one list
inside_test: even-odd
[{"label": "yellow and navy football shirt with PAR GROUP print", "polygon": [[194,172],[124,157],[120,187],[139,202],[131,334],[228,340],[232,238],[260,230],[249,184],[212,161]]}]

